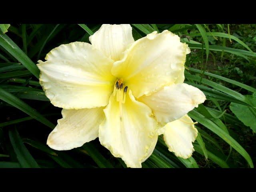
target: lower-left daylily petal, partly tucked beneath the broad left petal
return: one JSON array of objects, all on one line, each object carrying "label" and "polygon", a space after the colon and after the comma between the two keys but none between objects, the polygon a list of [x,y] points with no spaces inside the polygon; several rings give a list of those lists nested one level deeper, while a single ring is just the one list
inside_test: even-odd
[{"label": "lower-left daylily petal, partly tucked beneath the broad left petal", "polygon": [[98,137],[104,119],[103,108],[63,109],[62,119],[49,134],[47,145],[55,150],[70,150]]}]

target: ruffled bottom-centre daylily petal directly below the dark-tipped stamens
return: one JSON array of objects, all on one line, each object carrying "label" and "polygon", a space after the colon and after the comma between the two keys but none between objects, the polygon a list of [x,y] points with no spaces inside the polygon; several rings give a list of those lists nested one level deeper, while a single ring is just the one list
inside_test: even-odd
[{"label": "ruffled bottom-centre daylily petal directly below the dark-tipped stamens", "polygon": [[112,94],[104,109],[106,119],[100,125],[100,143],[113,156],[122,158],[128,167],[141,168],[156,145],[157,122],[150,108],[136,101],[131,90],[120,111],[120,104]]}]

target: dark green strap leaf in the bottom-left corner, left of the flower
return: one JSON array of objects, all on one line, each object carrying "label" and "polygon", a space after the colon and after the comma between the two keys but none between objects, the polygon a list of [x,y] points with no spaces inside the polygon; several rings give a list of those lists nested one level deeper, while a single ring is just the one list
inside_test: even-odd
[{"label": "dark green strap leaf in the bottom-left corner, left of the flower", "polygon": [[22,139],[20,138],[20,135],[16,129],[9,130],[9,137],[20,166],[22,168],[40,168],[36,160],[34,160],[30,152],[24,146]]}]

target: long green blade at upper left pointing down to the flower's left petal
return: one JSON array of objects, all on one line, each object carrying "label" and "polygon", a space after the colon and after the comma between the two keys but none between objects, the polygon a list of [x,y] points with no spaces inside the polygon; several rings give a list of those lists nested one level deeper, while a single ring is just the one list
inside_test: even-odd
[{"label": "long green blade at upper left pointing down to the flower's left petal", "polygon": [[24,65],[36,78],[39,78],[38,67],[28,56],[6,35],[0,32],[0,45]]}]

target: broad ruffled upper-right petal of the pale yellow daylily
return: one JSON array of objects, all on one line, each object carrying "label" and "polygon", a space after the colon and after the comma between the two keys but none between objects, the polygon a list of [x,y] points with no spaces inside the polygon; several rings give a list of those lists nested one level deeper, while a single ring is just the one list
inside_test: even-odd
[{"label": "broad ruffled upper-right petal of the pale yellow daylily", "polygon": [[134,42],[124,58],[114,62],[112,74],[123,79],[136,98],[173,84],[186,60],[188,45],[164,30]]}]

